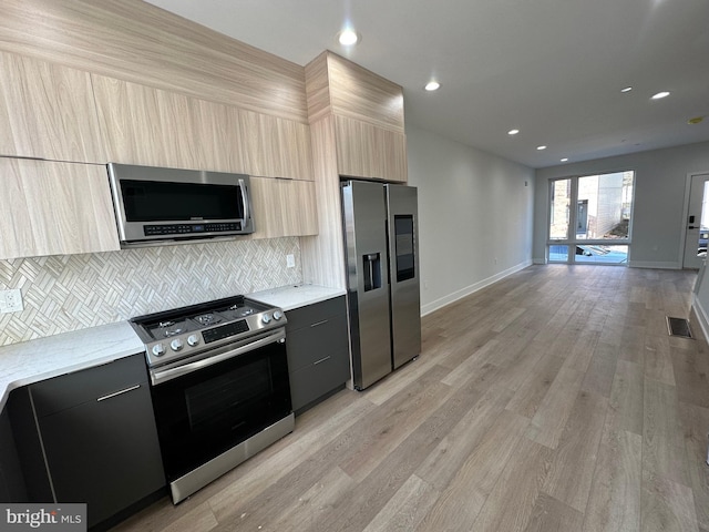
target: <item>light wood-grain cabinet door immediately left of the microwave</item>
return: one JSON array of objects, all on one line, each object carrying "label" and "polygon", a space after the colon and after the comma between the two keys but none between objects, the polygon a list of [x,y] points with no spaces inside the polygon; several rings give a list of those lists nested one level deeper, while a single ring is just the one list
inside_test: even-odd
[{"label": "light wood-grain cabinet door immediately left of the microwave", "polygon": [[0,157],[0,259],[117,250],[103,165]]}]

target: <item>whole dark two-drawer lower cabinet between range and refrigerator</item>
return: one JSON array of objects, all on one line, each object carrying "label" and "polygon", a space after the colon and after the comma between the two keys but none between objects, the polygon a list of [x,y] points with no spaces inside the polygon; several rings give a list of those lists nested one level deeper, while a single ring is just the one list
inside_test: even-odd
[{"label": "whole dark two-drawer lower cabinet between range and refrigerator", "polygon": [[292,409],[302,413],[350,378],[345,296],[286,313]]}]

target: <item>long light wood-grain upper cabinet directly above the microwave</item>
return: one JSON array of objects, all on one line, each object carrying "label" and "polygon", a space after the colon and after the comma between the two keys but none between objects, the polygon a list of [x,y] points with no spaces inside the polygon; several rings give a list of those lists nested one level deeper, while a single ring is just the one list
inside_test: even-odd
[{"label": "long light wood-grain upper cabinet directly above the microwave", "polygon": [[92,74],[109,160],[312,180],[307,124]]}]

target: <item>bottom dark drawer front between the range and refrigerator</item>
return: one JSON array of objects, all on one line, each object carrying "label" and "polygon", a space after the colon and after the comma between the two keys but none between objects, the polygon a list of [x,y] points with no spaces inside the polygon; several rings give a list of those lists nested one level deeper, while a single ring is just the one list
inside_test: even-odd
[{"label": "bottom dark drawer front between the range and refrigerator", "polygon": [[290,374],[292,409],[299,410],[328,391],[342,386],[350,377],[346,351],[333,354],[318,364]]}]

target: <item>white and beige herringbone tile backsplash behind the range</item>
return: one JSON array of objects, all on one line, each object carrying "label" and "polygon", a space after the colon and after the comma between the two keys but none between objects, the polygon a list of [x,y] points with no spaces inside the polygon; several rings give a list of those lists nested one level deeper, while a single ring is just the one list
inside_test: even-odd
[{"label": "white and beige herringbone tile backsplash behind the range", "polygon": [[24,303],[0,314],[0,346],[300,282],[297,237],[0,260]]}]

